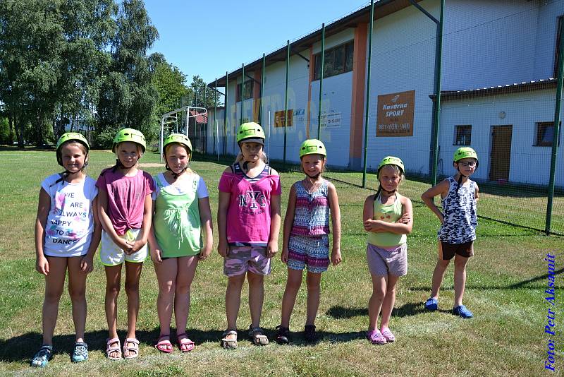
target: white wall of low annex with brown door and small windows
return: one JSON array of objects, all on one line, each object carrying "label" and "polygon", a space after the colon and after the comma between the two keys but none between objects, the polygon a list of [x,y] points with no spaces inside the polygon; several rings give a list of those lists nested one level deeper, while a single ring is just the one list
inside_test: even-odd
[{"label": "white wall of low annex with brown door and small windows", "polygon": [[[441,152],[438,174],[455,173],[452,167],[455,126],[472,125],[472,148],[479,157],[477,179],[487,180],[490,172],[492,126],[512,125],[509,181],[535,185],[548,184],[551,164],[551,147],[534,146],[537,138],[537,122],[553,121],[556,90],[537,90],[495,97],[477,97],[467,100],[442,102],[439,145]],[[505,118],[500,113],[505,113]],[[564,114],[564,113],[563,113]],[[560,119],[563,119],[560,114]],[[560,134],[562,131],[560,131]],[[560,140],[562,135],[560,135]],[[564,143],[560,142],[558,156],[564,155]],[[556,186],[564,186],[564,163],[558,158]]]}]

